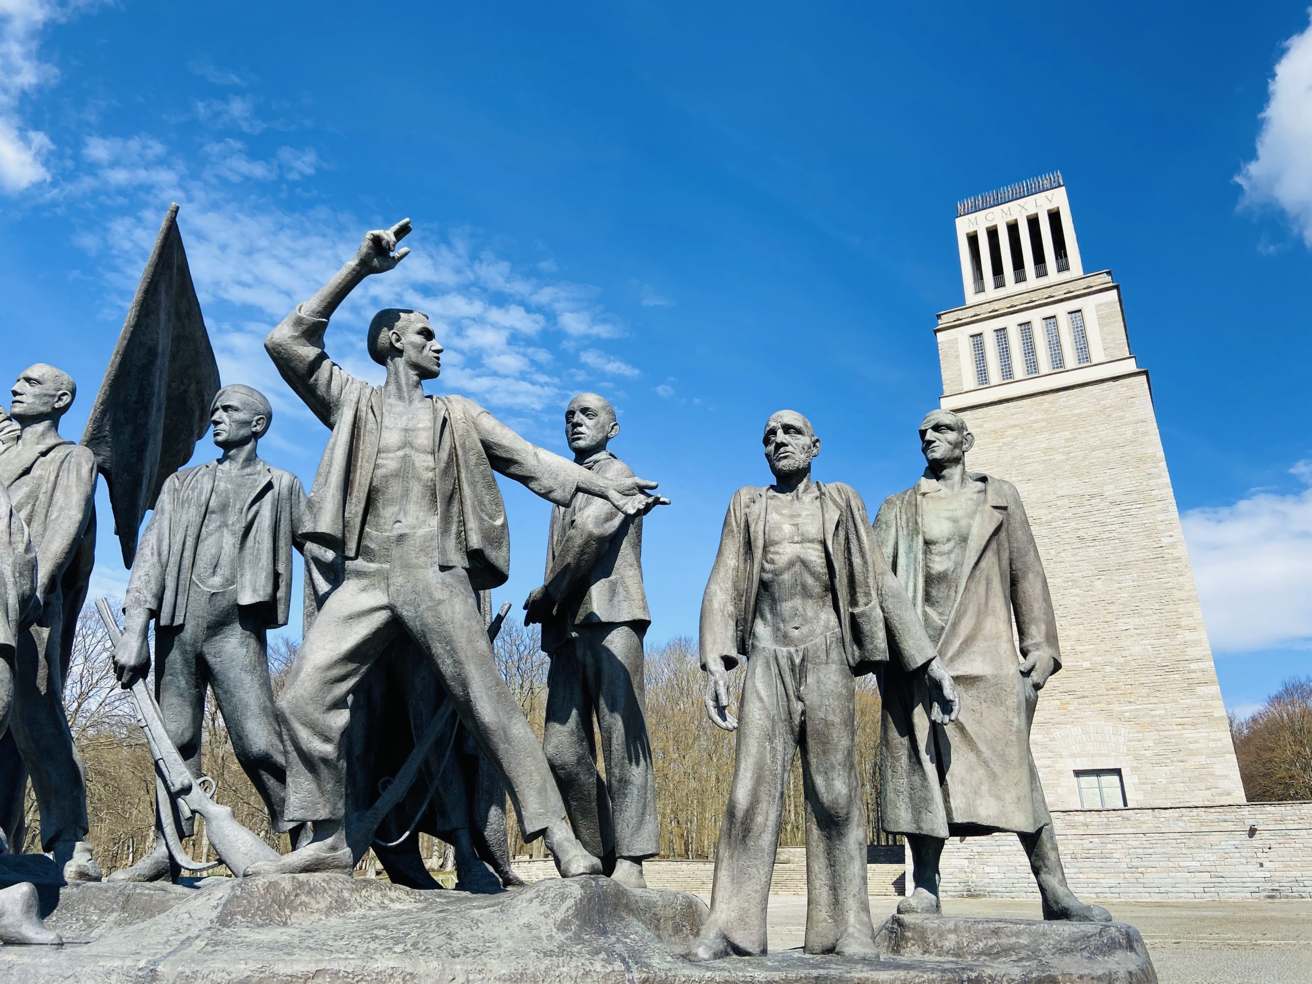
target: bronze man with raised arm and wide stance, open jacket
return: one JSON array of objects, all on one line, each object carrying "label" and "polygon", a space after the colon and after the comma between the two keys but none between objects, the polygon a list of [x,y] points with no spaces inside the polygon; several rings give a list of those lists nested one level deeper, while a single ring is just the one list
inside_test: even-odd
[{"label": "bronze man with raised arm and wide stance, open jacket", "polygon": [[442,346],[428,316],[388,308],[369,327],[382,387],[328,358],[329,316],[367,276],[390,270],[409,219],[369,232],[356,256],[269,333],[282,378],[332,429],[310,495],[304,535],[345,558],[345,576],[306,634],[279,710],[287,752],[286,820],[312,821],[315,840],[249,874],[349,872],[341,737],[348,698],[399,632],[433,661],[447,697],[496,764],[525,840],[546,836],[565,876],[601,862],[565,825],[542,747],[497,672],[475,592],[505,583],[510,544],[493,471],[568,505],[575,492],[607,499],[626,516],[663,500],[655,483],[611,480],[530,445],[471,400],[429,398]]}]

